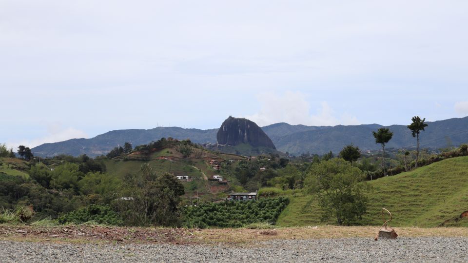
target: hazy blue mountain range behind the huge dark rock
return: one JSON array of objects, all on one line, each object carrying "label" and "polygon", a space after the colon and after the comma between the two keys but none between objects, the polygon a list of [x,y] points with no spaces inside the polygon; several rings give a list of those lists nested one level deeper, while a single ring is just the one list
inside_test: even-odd
[{"label": "hazy blue mountain range behind the huge dark rock", "polygon": [[[427,122],[429,124],[420,135],[421,148],[445,148],[468,142],[468,117],[453,118],[443,121]],[[275,123],[261,127],[273,141],[276,149],[292,155],[302,153],[324,154],[329,151],[338,153],[343,146],[353,143],[363,151],[379,150],[372,131],[388,127],[393,138],[388,148],[415,148],[416,139],[406,125],[383,126],[379,124],[306,126]],[[180,127],[157,127],[154,129],[114,130],[90,139],[71,139],[64,142],[44,143],[32,149],[36,156],[56,156],[67,154],[78,156],[86,154],[91,157],[107,154],[117,145],[131,142],[134,146],[159,140],[162,137],[173,137],[179,140],[190,139],[196,143],[217,143],[218,129],[184,129]]]}]

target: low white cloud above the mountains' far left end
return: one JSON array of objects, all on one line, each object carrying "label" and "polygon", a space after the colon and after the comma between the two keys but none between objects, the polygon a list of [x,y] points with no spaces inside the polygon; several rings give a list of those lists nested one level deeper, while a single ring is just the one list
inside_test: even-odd
[{"label": "low white cloud above the mountains' far left end", "polygon": [[43,143],[62,142],[76,138],[88,138],[88,135],[85,132],[73,127],[64,128],[62,124],[56,122],[47,125],[47,132],[42,137],[31,140],[22,140],[19,142],[7,142],[6,144],[8,147],[13,147],[13,149],[18,148],[19,145],[33,148]]}]

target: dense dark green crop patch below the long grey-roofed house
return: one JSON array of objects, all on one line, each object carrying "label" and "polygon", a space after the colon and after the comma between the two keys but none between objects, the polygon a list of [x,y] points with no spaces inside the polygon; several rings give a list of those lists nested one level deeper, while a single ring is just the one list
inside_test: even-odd
[{"label": "dense dark green crop patch below the long grey-roofed house", "polygon": [[288,198],[245,202],[207,203],[187,208],[186,227],[242,227],[252,223],[274,224]]}]

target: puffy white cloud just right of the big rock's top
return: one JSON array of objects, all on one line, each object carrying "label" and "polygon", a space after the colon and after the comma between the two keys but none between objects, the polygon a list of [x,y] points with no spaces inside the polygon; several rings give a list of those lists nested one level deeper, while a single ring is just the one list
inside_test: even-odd
[{"label": "puffy white cloud just right of the big rock's top", "polygon": [[245,118],[260,126],[277,122],[292,125],[333,126],[338,124],[357,125],[360,122],[348,113],[336,117],[335,111],[327,101],[322,101],[315,113],[311,114],[311,104],[302,92],[286,91],[284,94],[264,93],[257,96],[261,104],[260,111]]}]

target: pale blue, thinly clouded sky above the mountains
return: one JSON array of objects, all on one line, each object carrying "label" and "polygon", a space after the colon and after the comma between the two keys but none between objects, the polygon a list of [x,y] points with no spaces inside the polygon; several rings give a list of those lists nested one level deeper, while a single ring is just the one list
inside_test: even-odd
[{"label": "pale blue, thinly clouded sky above the mountains", "polygon": [[0,0],[0,143],[468,116],[468,1]]}]

